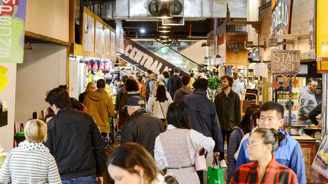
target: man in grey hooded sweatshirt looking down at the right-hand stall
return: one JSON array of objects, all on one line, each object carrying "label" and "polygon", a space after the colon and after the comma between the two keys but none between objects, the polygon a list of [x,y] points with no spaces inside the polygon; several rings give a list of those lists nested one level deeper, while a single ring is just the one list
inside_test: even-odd
[{"label": "man in grey hooded sweatshirt looking down at the right-hand stall", "polygon": [[309,119],[309,112],[317,105],[314,91],[318,86],[318,81],[315,78],[309,78],[307,85],[300,90],[298,96],[298,121],[306,122]]}]

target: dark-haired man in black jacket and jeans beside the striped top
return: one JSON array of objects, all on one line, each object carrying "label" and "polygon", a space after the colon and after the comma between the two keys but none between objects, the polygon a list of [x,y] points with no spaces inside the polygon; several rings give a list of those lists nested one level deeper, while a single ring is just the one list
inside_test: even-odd
[{"label": "dark-haired man in black jacket and jeans beside the striped top", "polygon": [[48,91],[45,101],[56,116],[47,123],[44,145],[56,159],[62,181],[97,180],[102,183],[105,149],[93,118],[70,108],[70,97],[64,89]]}]

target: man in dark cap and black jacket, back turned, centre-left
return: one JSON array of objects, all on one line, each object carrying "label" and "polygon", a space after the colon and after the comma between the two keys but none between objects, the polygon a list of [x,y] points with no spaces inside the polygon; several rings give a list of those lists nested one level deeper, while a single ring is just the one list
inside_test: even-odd
[{"label": "man in dark cap and black jacket, back turned, centre-left", "polygon": [[125,108],[130,118],[122,125],[121,145],[136,142],[154,156],[155,139],[165,131],[163,122],[146,112],[145,102],[139,96],[130,97]]}]

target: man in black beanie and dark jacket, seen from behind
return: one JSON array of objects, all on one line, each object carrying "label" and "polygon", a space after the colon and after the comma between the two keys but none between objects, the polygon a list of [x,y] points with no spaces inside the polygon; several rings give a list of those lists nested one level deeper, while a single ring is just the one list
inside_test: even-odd
[{"label": "man in black beanie and dark jacket, seen from behind", "polygon": [[[223,152],[223,140],[221,127],[218,123],[215,105],[207,98],[208,80],[205,78],[197,79],[193,86],[194,93],[185,95],[182,99],[189,109],[191,128],[204,136],[212,137],[215,146],[213,149],[213,156],[217,158],[220,152]],[[203,171],[197,171],[200,183],[203,183]]]}]

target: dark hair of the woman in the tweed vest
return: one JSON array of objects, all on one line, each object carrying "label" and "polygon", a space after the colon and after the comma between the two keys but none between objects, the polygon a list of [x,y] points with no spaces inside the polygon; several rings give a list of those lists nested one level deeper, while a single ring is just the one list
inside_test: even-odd
[{"label": "dark hair of the woman in the tweed vest", "polygon": [[189,110],[183,101],[170,104],[166,120],[177,128],[190,129],[191,127]]}]

